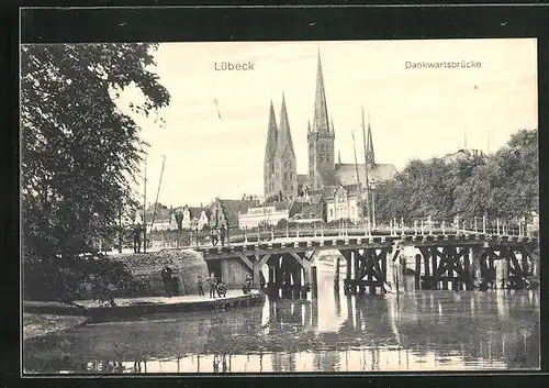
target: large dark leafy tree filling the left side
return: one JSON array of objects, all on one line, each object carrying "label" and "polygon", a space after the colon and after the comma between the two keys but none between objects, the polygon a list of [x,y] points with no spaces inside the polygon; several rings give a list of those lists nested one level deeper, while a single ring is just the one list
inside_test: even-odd
[{"label": "large dark leafy tree filling the left side", "polygon": [[93,252],[131,204],[143,158],[139,128],[115,98],[148,115],[169,103],[150,44],[23,45],[21,48],[22,234],[25,260]]}]

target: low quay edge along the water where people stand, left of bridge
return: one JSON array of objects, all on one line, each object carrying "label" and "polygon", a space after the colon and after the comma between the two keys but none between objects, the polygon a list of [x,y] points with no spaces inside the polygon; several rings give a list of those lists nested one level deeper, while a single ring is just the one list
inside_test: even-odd
[{"label": "low quay edge along the water where people stand, left of bridge", "polygon": [[262,292],[253,291],[243,295],[242,290],[228,290],[224,298],[208,296],[115,298],[115,306],[99,303],[93,300],[80,300],[74,304],[57,302],[23,302],[26,313],[54,314],[66,317],[86,317],[93,321],[139,317],[156,313],[173,313],[186,311],[225,310],[229,308],[257,306],[265,302]]}]

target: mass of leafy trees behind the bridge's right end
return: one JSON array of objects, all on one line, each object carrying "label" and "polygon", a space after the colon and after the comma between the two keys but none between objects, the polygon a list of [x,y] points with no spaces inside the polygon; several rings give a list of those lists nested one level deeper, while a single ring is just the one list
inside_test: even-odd
[{"label": "mass of leafy trees behind the bridge's right end", "polygon": [[412,160],[376,191],[377,219],[518,218],[539,203],[537,130],[513,134],[493,156]]}]

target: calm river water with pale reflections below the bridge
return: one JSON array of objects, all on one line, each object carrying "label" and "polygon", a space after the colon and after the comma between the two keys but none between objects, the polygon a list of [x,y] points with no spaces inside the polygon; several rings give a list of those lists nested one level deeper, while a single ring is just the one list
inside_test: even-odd
[{"label": "calm river water with pale reflections below the bridge", "polygon": [[[413,279],[408,279],[413,286]],[[539,291],[346,297],[88,324],[24,343],[26,374],[538,369]]]}]

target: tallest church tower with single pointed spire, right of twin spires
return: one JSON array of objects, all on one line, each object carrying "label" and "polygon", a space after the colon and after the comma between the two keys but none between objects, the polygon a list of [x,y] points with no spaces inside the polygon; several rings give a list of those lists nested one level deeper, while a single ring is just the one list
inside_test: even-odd
[{"label": "tallest church tower with single pointed spire, right of twin spires", "polygon": [[321,53],[316,70],[316,95],[314,101],[313,126],[309,124],[309,181],[313,189],[326,185],[325,178],[334,174],[334,123],[328,121],[326,91],[322,74]]}]

